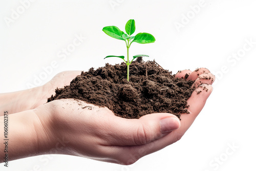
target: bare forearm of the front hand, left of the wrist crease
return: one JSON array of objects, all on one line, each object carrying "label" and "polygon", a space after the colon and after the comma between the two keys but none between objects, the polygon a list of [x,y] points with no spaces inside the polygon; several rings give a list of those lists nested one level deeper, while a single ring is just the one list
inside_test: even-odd
[{"label": "bare forearm of the front hand, left of the wrist crease", "polygon": [[[9,161],[24,157],[31,157],[40,154],[38,148],[38,128],[36,116],[32,110],[19,112],[8,115],[5,119],[8,120],[8,130],[5,134],[9,147],[5,154],[8,154]],[[5,120],[5,121],[7,121]],[[4,126],[4,116],[0,117],[0,125]],[[4,135],[4,129],[0,129],[0,134]],[[1,149],[4,149],[5,144],[1,143]],[[4,151],[1,150],[1,156],[4,156]],[[1,161],[3,158],[1,157]]]}]

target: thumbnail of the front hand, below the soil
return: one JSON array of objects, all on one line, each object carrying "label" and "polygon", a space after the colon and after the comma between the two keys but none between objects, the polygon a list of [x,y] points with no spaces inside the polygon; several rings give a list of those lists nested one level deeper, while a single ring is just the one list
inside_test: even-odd
[{"label": "thumbnail of the front hand, below the soil", "polygon": [[177,118],[168,117],[160,120],[161,133],[168,133],[177,130],[180,127],[180,121]]}]

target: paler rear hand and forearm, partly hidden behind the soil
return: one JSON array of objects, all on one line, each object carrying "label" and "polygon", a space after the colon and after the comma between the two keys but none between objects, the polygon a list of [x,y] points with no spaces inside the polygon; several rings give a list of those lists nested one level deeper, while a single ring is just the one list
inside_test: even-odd
[{"label": "paler rear hand and forearm, partly hidden behind the soil", "polygon": [[[68,86],[72,79],[80,75],[80,71],[65,71],[57,74],[44,86],[33,89],[0,94],[0,110],[8,111],[8,114],[18,113],[47,102],[51,95],[55,94],[56,88]],[[3,113],[0,113],[2,116]]]}]

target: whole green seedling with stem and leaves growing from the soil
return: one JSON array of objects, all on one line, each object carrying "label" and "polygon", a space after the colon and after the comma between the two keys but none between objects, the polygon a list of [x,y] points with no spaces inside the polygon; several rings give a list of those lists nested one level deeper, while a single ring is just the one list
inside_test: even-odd
[{"label": "whole green seedling with stem and leaves growing from the soil", "polygon": [[[124,40],[127,48],[127,61],[124,60],[124,56],[115,56],[115,55],[110,55],[106,56],[105,58],[108,57],[119,57],[124,60],[124,62],[127,65],[127,81],[129,81],[129,66],[131,65],[132,61],[140,56],[147,56],[148,55],[135,55],[133,56],[133,59],[130,61],[129,60],[129,49],[132,45],[133,42],[137,42],[139,44],[150,44],[152,42],[155,42],[156,39],[152,34],[149,33],[138,33],[135,36],[132,36],[132,34],[135,32],[135,20],[130,19],[126,25],[125,25],[125,34],[123,31],[121,31],[118,27],[116,26],[107,26],[102,29],[103,32],[108,34],[109,36],[119,39],[119,40]],[[104,58],[104,59],[105,59]]]}]

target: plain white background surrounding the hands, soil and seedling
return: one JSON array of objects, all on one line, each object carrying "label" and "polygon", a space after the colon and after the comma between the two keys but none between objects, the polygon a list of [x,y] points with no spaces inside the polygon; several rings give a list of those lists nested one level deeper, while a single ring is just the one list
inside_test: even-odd
[{"label": "plain white background surrounding the hands, soil and seedling", "polygon": [[[125,44],[102,28],[114,25],[124,31],[129,19],[135,19],[135,33],[156,38],[154,44],[133,44],[131,54],[150,55],[174,73],[205,67],[217,80],[183,138],[133,165],[51,155],[11,161],[8,169],[1,164],[1,170],[255,170],[255,1],[205,0],[200,8],[199,0],[37,0],[27,8],[22,7],[24,1],[0,2],[0,93],[40,86],[61,71],[121,62],[103,60],[106,55],[125,55]],[[58,54],[72,46],[75,35],[86,39],[61,58]],[[44,68],[53,61],[57,67],[45,75]],[[45,77],[35,84],[39,76]]]}]

